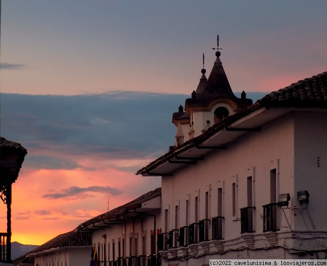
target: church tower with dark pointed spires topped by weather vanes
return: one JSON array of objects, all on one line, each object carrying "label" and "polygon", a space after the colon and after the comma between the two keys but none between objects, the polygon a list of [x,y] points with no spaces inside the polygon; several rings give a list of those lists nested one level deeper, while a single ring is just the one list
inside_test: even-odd
[{"label": "church tower with dark pointed spires topped by weather vanes", "polygon": [[[199,85],[192,96],[185,101],[185,112],[182,106],[173,114],[173,123],[177,127],[175,146],[204,133],[207,128],[218,124],[225,117],[252,104],[251,99],[246,99],[246,93],[241,93],[237,98],[231,90],[222,62],[220,61],[219,36],[217,36],[216,61],[209,78],[206,79],[203,69]],[[181,136],[183,135],[183,138]]]}]

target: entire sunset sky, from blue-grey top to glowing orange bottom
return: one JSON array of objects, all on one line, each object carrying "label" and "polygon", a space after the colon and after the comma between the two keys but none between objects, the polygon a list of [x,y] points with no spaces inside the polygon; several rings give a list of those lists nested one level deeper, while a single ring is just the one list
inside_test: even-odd
[{"label": "entire sunset sky, from blue-grey top to glowing orange bottom", "polygon": [[112,209],[160,186],[135,172],[174,143],[172,113],[196,89],[203,53],[211,70],[217,34],[237,96],[327,71],[326,10],[325,0],[3,0],[1,135],[28,150],[12,240],[40,245],[108,199]]}]

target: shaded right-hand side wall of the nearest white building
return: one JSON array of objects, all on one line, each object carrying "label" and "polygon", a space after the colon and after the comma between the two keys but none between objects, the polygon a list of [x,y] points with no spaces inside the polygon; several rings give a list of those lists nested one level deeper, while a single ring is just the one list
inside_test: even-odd
[{"label": "shaded right-hand side wall of the nearest white building", "polygon": [[[297,191],[308,190],[309,205],[296,210],[295,229],[327,230],[327,114],[298,112],[295,116],[295,184]],[[297,198],[296,198],[297,199]],[[295,207],[299,207],[296,200]]]}]

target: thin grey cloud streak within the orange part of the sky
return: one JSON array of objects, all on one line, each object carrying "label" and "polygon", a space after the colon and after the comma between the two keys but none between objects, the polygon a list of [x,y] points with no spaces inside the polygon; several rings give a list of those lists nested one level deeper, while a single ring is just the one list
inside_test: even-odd
[{"label": "thin grey cloud streak within the orange part of the sky", "polygon": [[89,187],[71,186],[68,187],[67,189],[64,189],[63,192],[61,193],[44,194],[42,198],[48,198],[48,199],[68,198],[68,197],[74,197],[79,194],[83,194],[85,192],[109,193],[114,196],[122,193],[121,190],[110,186],[89,186]]}]

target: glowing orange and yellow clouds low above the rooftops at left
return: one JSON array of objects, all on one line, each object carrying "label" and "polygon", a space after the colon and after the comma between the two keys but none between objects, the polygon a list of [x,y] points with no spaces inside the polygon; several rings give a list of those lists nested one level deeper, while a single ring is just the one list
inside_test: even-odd
[{"label": "glowing orange and yellow clouds low above the rooftops at left", "polygon": [[[94,163],[94,160],[83,161],[85,165]],[[41,245],[108,208],[118,207],[160,186],[159,178],[143,178],[135,176],[134,172],[105,168],[104,161],[94,166],[100,170],[33,170],[23,167],[12,186],[12,241]],[[69,195],[72,187],[78,188],[77,194]],[[110,189],[106,190],[107,187],[121,193],[112,194]],[[60,197],[44,197],[57,194]],[[3,214],[0,216],[0,230],[5,232],[5,204],[0,204],[0,213]]]}]

